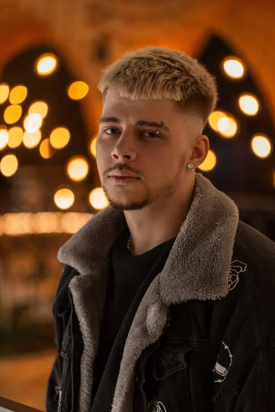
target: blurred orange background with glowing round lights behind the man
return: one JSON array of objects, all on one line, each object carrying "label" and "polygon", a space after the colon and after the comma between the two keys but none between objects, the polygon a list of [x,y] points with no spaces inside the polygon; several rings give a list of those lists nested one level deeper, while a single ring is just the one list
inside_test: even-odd
[{"label": "blurred orange background with glowing round lights behind the man", "polygon": [[106,201],[96,170],[102,70],[179,49],[219,87],[199,172],[275,241],[272,0],[0,0],[0,396],[45,411],[58,248]]}]

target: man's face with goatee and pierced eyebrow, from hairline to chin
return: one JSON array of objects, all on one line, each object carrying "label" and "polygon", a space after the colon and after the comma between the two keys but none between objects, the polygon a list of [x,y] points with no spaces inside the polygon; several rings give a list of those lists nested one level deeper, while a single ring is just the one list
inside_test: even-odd
[{"label": "man's face with goatee and pierced eyebrow, from hairline to chin", "polygon": [[[135,210],[179,198],[195,137],[190,136],[195,129],[190,130],[188,115],[179,113],[173,100],[133,101],[108,91],[96,161],[110,205]],[[127,173],[135,177],[129,179]]]}]

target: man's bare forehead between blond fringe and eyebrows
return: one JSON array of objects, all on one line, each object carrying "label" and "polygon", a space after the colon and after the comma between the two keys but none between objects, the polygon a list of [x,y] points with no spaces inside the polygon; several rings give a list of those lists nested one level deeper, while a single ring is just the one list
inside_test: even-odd
[{"label": "man's bare forehead between blond fringe and eyebrows", "polygon": [[168,121],[170,117],[179,115],[175,108],[175,101],[170,99],[162,100],[131,100],[122,98],[117,91],[107,92],[103,103],[102,115],[119,117],[120,119],[151,118],[157,116],[159,121]]}]

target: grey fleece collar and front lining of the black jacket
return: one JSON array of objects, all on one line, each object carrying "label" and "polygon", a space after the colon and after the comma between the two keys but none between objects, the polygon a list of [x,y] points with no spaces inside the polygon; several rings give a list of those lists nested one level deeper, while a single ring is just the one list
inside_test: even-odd
[{"label": "grey fleece collar and front lining of the black jacket", "polygon": [[[166,324],[168,307],[190,299],[220,299],[228,294],[228,276],[239,211],[208,179],[196,174],[195,194],[166,264],[148,288],[129,331],[112,412],[131,411],[135,363],[155,343]],[[58,259],[76,268],[70,282],[83,334],[80,412],[91,406],[93,363],[108,277],[109,251],[126,228],[121,211],[107,207],[80,229],[58,252]]]}]

